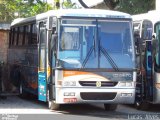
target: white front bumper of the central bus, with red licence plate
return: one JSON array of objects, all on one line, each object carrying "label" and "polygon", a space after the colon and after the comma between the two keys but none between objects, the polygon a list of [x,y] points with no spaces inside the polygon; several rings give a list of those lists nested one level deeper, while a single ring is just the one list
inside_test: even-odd
[{"label": "white front bumper of the central bus, with red licence plate", "polygon": [[[69,94],[70,93],[70,94]],[[133,104],[134,88],[56,88],[56,103]]]}]

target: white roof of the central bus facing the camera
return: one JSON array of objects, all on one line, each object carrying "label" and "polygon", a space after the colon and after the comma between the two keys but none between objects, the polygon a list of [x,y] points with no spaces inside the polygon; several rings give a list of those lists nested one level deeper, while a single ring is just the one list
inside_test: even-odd
[{"label": "white roof of the central bus facing the camera", "polygon": [[12,23],[11,26],[25,23],[33,20],[39,20],[47,18],[48,16],[60,17],[89,17],[89,18],[128,18],[131,19],[131,16],[127,13],[111,10],[100,10],[100,9],[59,9],[59,10],[50,10],[48,12],[38,14],[34,17],[29,18],[17,18]]}]

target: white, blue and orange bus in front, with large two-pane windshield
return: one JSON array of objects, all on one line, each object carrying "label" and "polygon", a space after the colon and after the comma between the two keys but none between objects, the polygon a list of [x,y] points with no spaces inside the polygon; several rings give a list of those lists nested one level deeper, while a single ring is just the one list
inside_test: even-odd
[{"label": "white, blue and orange bus in front, with large two-pane windshield", "polygon": [[10,80],[22,96],[50,109],[135,100],[135,48],[129,14],[97,9],[51,10],[11,24]]}]

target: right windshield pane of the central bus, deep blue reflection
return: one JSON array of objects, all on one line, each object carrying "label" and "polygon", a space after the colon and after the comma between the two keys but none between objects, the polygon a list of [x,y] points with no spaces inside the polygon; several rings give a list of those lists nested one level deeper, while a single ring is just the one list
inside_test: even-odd
[{"label": "right windshield pane of the central bus, deep blue reflection", "polygon": [[129,21],[98,21],[101,68],[134,68],[134,47]]}]

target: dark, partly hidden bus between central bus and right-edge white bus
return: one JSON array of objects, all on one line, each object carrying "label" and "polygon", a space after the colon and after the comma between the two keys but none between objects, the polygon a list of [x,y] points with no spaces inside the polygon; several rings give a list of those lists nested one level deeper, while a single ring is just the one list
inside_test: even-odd
[{"label": "dark, partly hidden bus between central bus and right-edge white bus", "polygon": [[153,96],[152,80],[152,34],[153,23],[148,19],[133,21],[137,60],[137,82],[135,106],[138,109],[148,109]]}]

